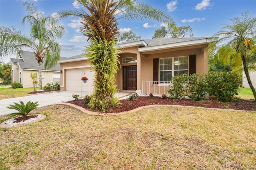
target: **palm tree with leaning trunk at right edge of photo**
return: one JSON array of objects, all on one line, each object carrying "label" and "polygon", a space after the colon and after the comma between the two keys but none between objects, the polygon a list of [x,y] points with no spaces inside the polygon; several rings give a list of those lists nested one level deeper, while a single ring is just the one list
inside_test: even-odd
[{"label": "palm tree with leaning trunk at right edge of photo", "polygon": [[[255,69],[256,61],[256,18],[250,18],[246,11],[231,21],[232,25],[224,24],[222,30],[214,35],[219,38],[209,45],[209,55],[217,57],[223,64],[230,63],[234,67],[242,65],[256,101],[256,91],[249,74],[250,68]],[[214,55],[216,52],[217,55]]]}]

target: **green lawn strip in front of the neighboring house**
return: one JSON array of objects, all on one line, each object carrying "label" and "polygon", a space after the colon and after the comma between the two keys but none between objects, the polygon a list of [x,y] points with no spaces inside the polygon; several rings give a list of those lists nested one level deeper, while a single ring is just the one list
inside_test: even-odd
[{"label": "green lawn strip in front of the neighboring house", "polygon": [[[37,88],[38,90],[39,88]],[[30,92],[34,91],[34,87],[28,88],[0,88],[0,99],[9,99],[13,97],[28,96]]]}]

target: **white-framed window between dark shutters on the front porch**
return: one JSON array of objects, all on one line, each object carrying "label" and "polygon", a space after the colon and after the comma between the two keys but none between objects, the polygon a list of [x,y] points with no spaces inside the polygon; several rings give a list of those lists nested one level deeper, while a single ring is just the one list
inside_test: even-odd
[{"label": "white-framed window between dark shutters on the front porch", "polygon": [[188,56],[159,59],[159,81],[168,83],[172,77],[182,74],[188,74]]}]

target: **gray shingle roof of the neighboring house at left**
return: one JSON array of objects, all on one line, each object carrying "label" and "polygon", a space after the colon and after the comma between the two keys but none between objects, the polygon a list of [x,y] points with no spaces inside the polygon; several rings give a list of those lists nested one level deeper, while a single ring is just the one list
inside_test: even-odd
[{"label": "gray shingle roof of the neighboring house at left", "polygon": [[[18,63],[21,69],[34,69],[38,70],[38,62],[35,58],[34,52],[30,51],[20,51],[20,54],[17,55],[18,58],[10,58],[12,63]],[[65,57],[60,57],[63,59]],[[42,70],[44,70],[44,62],[42,65]],[[57,63],[52,69],[49,71],[60,71],[60,64]]]}]

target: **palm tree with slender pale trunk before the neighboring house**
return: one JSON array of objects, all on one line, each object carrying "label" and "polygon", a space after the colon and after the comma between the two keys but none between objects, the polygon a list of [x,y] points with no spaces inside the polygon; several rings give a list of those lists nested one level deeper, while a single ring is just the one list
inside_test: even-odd
[{"label": "palm tree with slender pale trunk before the neighboring house", "polygon": [[0,56],[14,55],[22,47],[30,47],[38,61],[39,90],[42,90],[42,63],[45,59],[45,69],[53,67],[60,59],[60,44],[56,41],[62,38],[64,27],[58,26],[57,20],[52,16],[42,16],[33,3],[24,2],[28,15],[22,19],[27,20],[30,26],[30,38],[23,35],[14,27],[0,26]]}]

